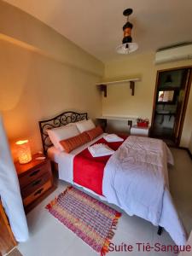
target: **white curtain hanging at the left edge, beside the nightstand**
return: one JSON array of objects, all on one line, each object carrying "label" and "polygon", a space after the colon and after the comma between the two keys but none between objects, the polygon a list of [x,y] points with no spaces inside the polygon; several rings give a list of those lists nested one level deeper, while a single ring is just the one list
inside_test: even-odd
[{"label": "white curtain hanging at the left edge, beside the nightstand", "polygon": [[17,241],[26,241],[28,228],[20,196],[20,185],[11,158],[9,143],[0,113],[0,196]]}]

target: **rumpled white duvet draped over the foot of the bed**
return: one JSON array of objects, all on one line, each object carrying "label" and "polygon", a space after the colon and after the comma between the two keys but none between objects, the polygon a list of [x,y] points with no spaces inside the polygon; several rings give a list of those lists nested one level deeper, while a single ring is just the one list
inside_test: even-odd
[{"label": "rumpled white duvet draped over the foot of the bed", "polygon": [[[185,231],[166,185],[167,163],[173,164],[172,154],[161,140],[128,137],[105,166],[102,192],[109,202],[129,215],[162,225],[177,244],[184,244]],[[164,209],[167,204],[174,215],[175,227],[170,228],[165,216],[161,218],[162,213],[168,213]]]}]

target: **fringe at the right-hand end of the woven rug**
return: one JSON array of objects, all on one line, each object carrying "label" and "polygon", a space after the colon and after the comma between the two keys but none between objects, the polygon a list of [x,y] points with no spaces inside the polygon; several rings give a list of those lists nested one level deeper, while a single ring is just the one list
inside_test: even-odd
[{"label": "fringe at the right-hand end of the woven rug", "polygon": [[112,241],[113,236],[114,236],[113,230],[117,229],[117,224],[118,224],[118,221],[119,221],[120,217],[121,217],[121,213],[120,212],[116,212],[116,214],[115,214],[115,216],[113,218],[113,222],[111,224],[111,229],[108,231],[108,236],[107,236],[107,238],[104,241],[104,244],[102,246],[101,256],[105,256],[108,253],[109,244]]}]

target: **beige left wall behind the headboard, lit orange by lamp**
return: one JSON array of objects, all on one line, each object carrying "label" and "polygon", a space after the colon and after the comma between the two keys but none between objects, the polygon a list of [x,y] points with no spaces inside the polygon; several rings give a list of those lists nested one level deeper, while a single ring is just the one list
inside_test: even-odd
[{"label": "beige left wall behind the headboard, lit orange by lamp", "polygon": [[104,65],[9,4],[0,2],[0,111],[11,143],[41,149],[38,120],[66,110],[102,113]]}]

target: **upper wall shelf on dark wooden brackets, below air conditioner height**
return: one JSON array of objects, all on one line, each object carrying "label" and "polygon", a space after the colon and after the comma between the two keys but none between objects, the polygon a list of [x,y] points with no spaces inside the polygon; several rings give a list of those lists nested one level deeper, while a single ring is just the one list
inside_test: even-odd
[{"label": "upper wall shelf on dark wooden brackets, below air conditioner height", "polygon": [[101,91],[104,92],[104,96],[107,97],[108,86],[110,84],[122,84],[122,83],[130,83],[131,89],[131,96],[135,94],[135,82],[140,81],[140,79],[124,79],[124,80],[117,80],[117,81],[110,81],[110,82],[101,82],[96,84]]}]

